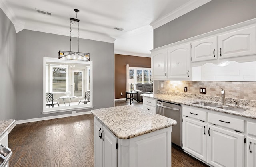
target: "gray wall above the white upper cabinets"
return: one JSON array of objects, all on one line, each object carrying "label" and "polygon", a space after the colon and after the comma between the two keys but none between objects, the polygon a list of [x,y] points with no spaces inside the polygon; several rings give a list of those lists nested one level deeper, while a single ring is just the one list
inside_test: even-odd
[{"label": "gray wall above the white upper cabinets", "polygon": [[154,48],[256,18],[256,0],[212,0],[154,29]]}]

